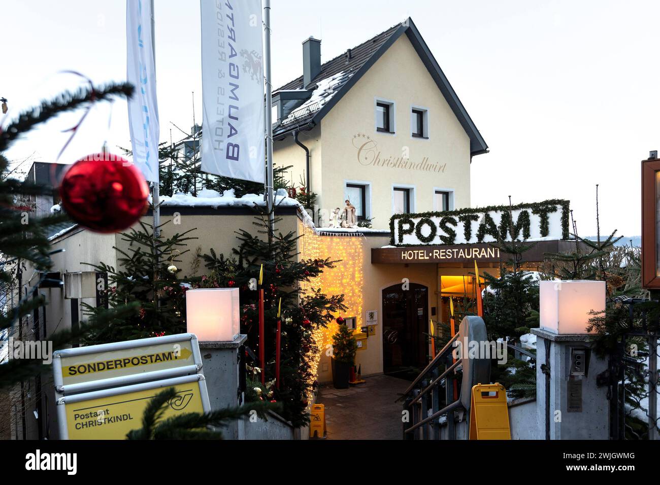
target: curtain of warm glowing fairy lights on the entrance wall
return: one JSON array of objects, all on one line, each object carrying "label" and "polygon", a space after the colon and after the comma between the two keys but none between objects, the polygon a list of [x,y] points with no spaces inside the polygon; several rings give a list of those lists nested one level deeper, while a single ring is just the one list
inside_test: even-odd
[{"label": "curtain of warm glowing fairy lights on the entrance wall", "polygon": [[[364,273],[362,260],[364,259],[364,238],[348,237],[345,233],[315,232],[306,224],[298,221],[298,234],[302,233],[300,253],[304,259],[325,259],[337,261],[335,267],[324,269],[323,273],[302,287],[303,291],[311,288],[321,288],[327,295],[344,295],[344,304],[348,307],[342,317],[356,317],[356,329],[362,327],[362,289],[364,286]],[[340,315],[334,315],[339,317]],[[322,352],[329,350],[332,337],[339,328],[336,321],[331,321],[327,328],[319,327],[314,331],[315,346],[310,348],[304,356],[306,362],[313,369],[310,384],[314,383],[318,375],[319,362]],[[311,395],[308,397],[311,400]],[[311,401],[310,401],[311,402]]]}]

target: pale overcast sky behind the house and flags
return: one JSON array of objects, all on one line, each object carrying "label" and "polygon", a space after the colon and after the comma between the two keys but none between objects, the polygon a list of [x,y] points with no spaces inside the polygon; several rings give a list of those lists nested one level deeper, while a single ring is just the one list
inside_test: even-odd
[{"label": "pale overcast sky behind the house and flags", "polygon": [[[578,231],[640,234],[640,160],[660,149],[658,1],[273,0],[273,84],[302,73],[301,42],[321,38],[323,61],[411,16],[490,148],[472,163],[472,205],[570,199]],[[199,2],[156,0],[161,141],[201,123]],[[125,2],[23,0],[3,4],[0,96],[11,114],[60,89],[123,81]],[[406,73],[401,73],[405,76]],[[439,93],[438,93],[439,94]],[[54,160],[49,123],[9,153]],[[125,102],[99,106],[59,159],[104,141],[129,146]]]}]

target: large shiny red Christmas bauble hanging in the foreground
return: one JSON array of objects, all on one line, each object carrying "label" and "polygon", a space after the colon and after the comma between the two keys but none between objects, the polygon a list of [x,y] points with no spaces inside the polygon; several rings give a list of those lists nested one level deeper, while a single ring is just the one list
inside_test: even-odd
[{"label": "large shiny red Christmas bauble hanging in the foreground", "polygon": [[96,232],[125,230],[149,207],[149,186],[140,171],[109,153],[75,162],[62,179],[59,196],[75,222]]}]

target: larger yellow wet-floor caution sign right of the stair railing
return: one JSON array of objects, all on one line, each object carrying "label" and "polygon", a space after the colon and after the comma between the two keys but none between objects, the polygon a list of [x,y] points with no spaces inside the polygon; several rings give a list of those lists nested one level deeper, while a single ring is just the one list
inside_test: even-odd
[{"label": "larger yellow wet-floor caution sign right of the stair railing", "polygon": [[500,383],[472,388],[470,439],[511,439],[506,389]]}]

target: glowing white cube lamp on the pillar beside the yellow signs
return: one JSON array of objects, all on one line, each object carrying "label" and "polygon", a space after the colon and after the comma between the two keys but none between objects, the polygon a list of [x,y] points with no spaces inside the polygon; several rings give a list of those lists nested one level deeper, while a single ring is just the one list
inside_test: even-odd
[{"label": "glowing white cube lamp on the pillar beside the yellow signs", "polygon": [[185,292],[186,326],[200,342],[232,342],[240,333],[238,288]]}]

